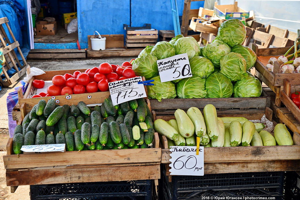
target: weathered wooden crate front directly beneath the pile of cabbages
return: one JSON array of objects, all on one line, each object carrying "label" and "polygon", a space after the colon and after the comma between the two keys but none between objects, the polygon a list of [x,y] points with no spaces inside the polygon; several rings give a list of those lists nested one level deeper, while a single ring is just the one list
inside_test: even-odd
[{"label": "weathered wooden crate front directly beneath the pile of cabbages", "polygon": [[270,106],[270,96],[262,90],[260,97],[244,98],[202,98],[202,99],[149,99],[152,110],[187,110],[190,107],[204,108],[206,104],[213,104],[218,110],[228,110],[229,108],[239,108],[240,110],[249,110],[250,108],[259,108],[265,110]]}]

